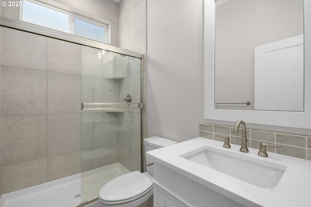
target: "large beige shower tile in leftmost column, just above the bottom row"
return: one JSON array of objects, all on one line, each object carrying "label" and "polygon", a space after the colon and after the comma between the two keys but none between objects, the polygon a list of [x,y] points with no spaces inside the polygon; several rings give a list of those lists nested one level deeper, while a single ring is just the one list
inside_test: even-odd
[{"label": "large beige shower tile in leftmost column, just above the bottom row", "polygon": [[0,149],[2,164],[47,156],[47,116],[1,116]]}]

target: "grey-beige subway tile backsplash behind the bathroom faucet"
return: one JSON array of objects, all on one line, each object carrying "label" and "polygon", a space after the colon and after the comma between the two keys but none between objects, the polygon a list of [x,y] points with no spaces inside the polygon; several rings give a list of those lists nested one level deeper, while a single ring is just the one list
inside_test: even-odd
[{"label": "grey-beige subway tile backsplash behind the bathroom faucet", "polygon": [[[230,143],[241,145],[241,128],[239,133],[235,133],[234,127],[200,123],[199,130],[200,137],[224,141],[223,137],[217,135],[228,136],[230,137]],[[259,143],[269,143],[278,145],[281,148],[268,146],[268,152],[311,160],[311,137],[256,129],[247,129],[246,137],[248,141],[247,146],[250,148],[259,149]]]}]

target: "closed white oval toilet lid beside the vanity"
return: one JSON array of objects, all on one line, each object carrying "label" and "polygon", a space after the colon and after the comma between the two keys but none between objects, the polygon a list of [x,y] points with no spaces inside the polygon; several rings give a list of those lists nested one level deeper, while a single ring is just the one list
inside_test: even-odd
[{"label": "closed white oval toilet lid beside the vanity", "polygon": [[109,181],[99,191],[103,203],[127,203],[140,198],[153,189],[153,182],[138,171],[127,173]]}]

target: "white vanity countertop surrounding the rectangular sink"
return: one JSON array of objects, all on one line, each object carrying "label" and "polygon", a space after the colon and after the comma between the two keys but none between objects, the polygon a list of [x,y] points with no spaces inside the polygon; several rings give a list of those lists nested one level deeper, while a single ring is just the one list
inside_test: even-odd
[{"label": "white vanity countertop surrounding the rectangular sink", "polygon": [[[179,157],[203,146],[211,146],[252,159],[284,165],[286,170],[276,189],[268,191]],[[257,155],[257,149],[249,148],[249,153],[242,153],[239,151],[240,147],[231,144],[231,148],[226,149],[223,147],[223,142],[196,138],[149,151],[146,156],[244,206],[254,206],[251,203],[248,204],[251,201],[263,207],[311,207],[311,161],[269,152],[268,158],[262,158]]]}]

